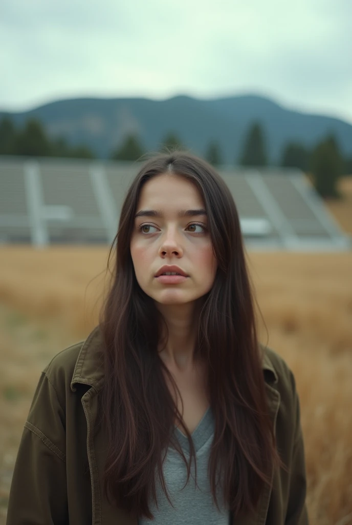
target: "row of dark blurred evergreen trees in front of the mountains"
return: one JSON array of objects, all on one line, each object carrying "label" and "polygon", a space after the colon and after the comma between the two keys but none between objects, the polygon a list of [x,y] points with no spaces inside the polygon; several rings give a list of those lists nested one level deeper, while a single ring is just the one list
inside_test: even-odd
[{"label": "row of dark blurred evergreen trees in front of the mountains", "polygon": [[[160,143],[160,151],[165,149],[188,149],[177,134],[169,132]],[[113,160],[136,161],[146,153],[137,134],[127,135],[122,144],[110,155]],[[88,146],[72,146],[64,138],[51,139],[41,122],[29,119],[22,128],[16,128],[12,120],[4,117],[0,121],[0,155],[34,155],[67,158],[94,159],[95,153]],[[223,164],[221,145],[212,140],[204,152],[204,158],[214,166]],[[260,122],[253,122],[244,138],[239,159],[235,165],[264,167],[269,165],[265,131]],[[271,164],[272,165],[272,164]],[[352,156],[344,158],[338,142],[332,133],[318,141],[313,148],[300,142],[287,143],[282,152],[279,165],[296,167],[312,176],[312,182],[323,197],[339,196],[337,181],[342,175],[352,174]]]}]

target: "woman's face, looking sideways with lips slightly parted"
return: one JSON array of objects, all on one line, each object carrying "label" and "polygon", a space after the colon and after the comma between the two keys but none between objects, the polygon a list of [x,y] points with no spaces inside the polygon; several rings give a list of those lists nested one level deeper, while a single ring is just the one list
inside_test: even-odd
[{"label": "woman's face, looking sideways with lips slightly parted", "polygon": [[[197,187],[180,175],[156,175],[142,187],[136,213],[142,210],[160,216],[147,213],[135,218],[130,251],[141,289],[162,304],[202,297],[213,286],[217,262]],[[201,212],[179,216],[189,210]],[[163,265],[177,265],[187,277],[178,283],[161,282],[156,274]]]}]

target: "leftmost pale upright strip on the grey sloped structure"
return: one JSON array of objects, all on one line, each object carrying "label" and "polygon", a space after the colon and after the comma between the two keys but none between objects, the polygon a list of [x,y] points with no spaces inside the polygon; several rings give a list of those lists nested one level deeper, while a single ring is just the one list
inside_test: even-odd
[{"label": "leftmost pale upright strip on the grey sloped structure", "polygon": [[43,191],[37,161],[24,163],[24,178],[32,244],[44,247],[49,244],[49,235],[46,221],[41,214]]}]

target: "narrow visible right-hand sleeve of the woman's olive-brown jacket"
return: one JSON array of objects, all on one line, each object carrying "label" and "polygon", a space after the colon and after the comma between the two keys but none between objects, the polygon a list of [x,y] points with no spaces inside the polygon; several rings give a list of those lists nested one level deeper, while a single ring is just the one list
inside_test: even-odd
[{"label": "narrow visible right-hand sleeve of the woman's olive-brown jacket", "polygon": [[292,451],[292,469],[290,473],[290,490],[285,516],[285,525],[309,525],[306,508],[306,470],[303,433],[300,417],[300,400],[296,391],[295,379],[290,371],[293,417],[294,417],[294,443]]}]

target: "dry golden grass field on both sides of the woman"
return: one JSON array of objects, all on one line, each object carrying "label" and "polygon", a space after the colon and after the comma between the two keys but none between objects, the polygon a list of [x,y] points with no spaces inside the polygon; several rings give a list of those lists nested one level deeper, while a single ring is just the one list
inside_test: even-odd
[{"label": "dry golden grass field on both sides of the woman", "polygon": [[[346,201],[328,206],[352,233]],[[349,193],[350,190],[350,193]],[[339,206],[340,205],[340,206]],[[0,248],[0,525],[31,397],[51,357],[94,327],[107,247]],[[260,340],[294,372],[311,525],[352,523],[352,251],[252,253]]]}]

